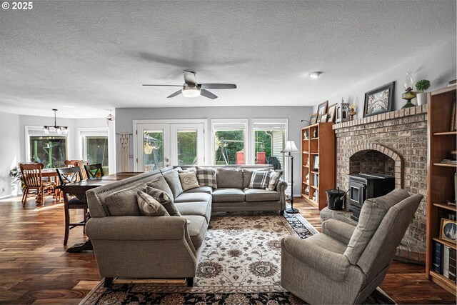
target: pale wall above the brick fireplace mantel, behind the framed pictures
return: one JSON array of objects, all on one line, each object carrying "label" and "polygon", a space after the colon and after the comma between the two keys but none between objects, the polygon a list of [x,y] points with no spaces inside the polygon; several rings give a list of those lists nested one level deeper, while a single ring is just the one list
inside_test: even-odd
[{"label": "pale wall above the brick fireplace mantel, behind the framed pictures", "polygon": [[[431,87],[427,91],[446,87],[448,81],[456,79],[456,39],[439,46],[433,46],[412,59],[386,69],[381,74],[374,75],[371,79],[363,79],[345,91],[329,96],[328,105],[340,103],[341,98],[344,98],[347,103],[355,101],[357,114],[354,119],[361,119],[363,118],[365,92],[395,81],[392,111],[401,109],[406,104],[406,100],[401,99],[401,94],[405,92],[403,84],[408,71],[413,71],[414,84],[420,79],[428,79],[431,82]],[[414,89],[416,90],[416,87]],[[317,105],[321,102],[316,103],[313,112],[317,112]],[[413,99],[413,103],[416,104],[416,99]]]}]

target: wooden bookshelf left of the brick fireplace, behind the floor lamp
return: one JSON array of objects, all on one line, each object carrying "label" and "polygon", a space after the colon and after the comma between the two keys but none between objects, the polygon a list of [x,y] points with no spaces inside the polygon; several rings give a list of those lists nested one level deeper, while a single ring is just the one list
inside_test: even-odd
[{"label": "wooden bookshelf left of the brick fireplace, behind the floor lamp", "polygon": [[333,123],[318,123],[301,129],[301,196],[319,210],[327,205],[326,190],[335,189],[332,126]]}]

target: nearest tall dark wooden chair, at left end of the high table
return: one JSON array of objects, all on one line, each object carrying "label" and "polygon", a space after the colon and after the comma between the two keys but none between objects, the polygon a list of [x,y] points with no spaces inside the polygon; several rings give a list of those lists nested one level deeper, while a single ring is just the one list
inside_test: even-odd
[{"label": "nearest tall dark wooden chair, at left end of the high table", "polygon": [[[82,180],[82,173],[79,166],[66,167],[61,169],[56,169],[57,174],[59,175],[60,185],[57,186],[63,191],[64,194],[64,211],[65,211],[65,236],[64,236],[64,246],[66,246],[67,241],[69,241],[70,230],[76,226],[86,226],[87,217],[87,203],[81,201],[76,197],[69,199],[68,194],[64,191],[65,184],[74,183]],[[84,219],[79,222],[70,221],[70,210],[71,209],[83,209]],[[84,228],[84,233],[86,233]]]}]

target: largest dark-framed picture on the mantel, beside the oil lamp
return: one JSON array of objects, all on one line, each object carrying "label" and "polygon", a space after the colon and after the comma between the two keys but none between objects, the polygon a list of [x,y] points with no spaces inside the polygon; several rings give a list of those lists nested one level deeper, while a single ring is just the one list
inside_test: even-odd
[{"label": "largest dark-framed picture on the mantel, beside the oil lamp", "polygon": [[363,117],[391,111],[395,81],[366,92]]}]

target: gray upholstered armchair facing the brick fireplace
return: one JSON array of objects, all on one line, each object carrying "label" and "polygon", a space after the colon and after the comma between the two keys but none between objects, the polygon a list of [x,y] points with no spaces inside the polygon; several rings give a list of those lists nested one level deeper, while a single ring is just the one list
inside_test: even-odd
[{"label": "gray upholstered armchair facing the brick fireplace", "polygon": [[367,199],[357,226],[323,222],[322,234],[281,243],[281,285],[309,304],[359,304],[381,284],[422,195]]}]

